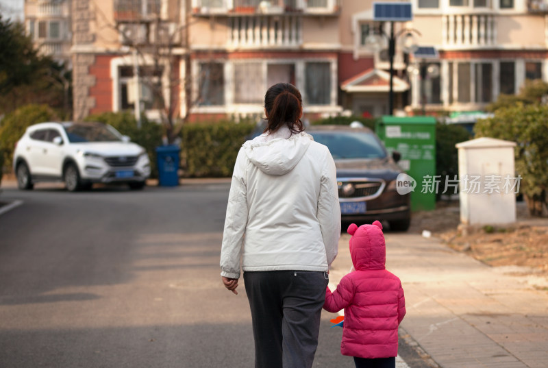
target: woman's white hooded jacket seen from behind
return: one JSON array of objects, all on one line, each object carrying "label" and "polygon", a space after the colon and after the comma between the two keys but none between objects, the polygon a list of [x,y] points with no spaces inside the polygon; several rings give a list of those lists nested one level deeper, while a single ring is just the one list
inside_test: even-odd
[{"label": "woman's white hooded jacket seen from behind", "polygon": [[286,127],[248,140],[232,175],[221,275],[239,278],[240,258],[243,271],[327,271],[339,237],[329,149]]}]

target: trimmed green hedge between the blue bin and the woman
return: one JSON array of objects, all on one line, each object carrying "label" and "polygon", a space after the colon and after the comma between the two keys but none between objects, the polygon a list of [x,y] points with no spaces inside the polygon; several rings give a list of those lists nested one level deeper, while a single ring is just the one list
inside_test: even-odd
[{"label": "trimmed green hedge between the blue bin and the woman", "polygon": [[186,124],[182,128],[182,164],[188,177],[229,177],[238,151],[253,132],[250,122]]}]

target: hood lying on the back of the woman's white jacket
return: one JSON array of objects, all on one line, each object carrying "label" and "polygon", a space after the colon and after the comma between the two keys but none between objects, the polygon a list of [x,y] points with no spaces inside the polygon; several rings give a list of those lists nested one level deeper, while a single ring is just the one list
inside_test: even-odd
[{"label": "hood lying on the back of the woman's white jacket", "polygon": [[313,140],[305,132],[291,134],[288,128],[280,128],[273,134],[248,140],[243,148],[249,160],[264,173],[284,175],[297,166]]}]

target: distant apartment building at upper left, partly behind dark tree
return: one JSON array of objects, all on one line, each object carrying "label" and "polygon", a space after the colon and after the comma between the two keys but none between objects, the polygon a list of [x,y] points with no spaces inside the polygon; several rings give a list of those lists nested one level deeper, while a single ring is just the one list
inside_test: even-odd
[{"label": "distant apartment building at upper left, partly behind dark tree", "polygon": [[25,0],[25,27],[43,55],[71,64],[71,0]]}]

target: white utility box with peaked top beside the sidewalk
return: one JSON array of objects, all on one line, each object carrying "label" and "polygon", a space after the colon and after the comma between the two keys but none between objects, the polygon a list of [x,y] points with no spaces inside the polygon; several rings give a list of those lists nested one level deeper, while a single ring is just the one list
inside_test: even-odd
[{"label": "white utility box with peaked top beside the sidewalk", "polygon": [[516,143],[477,138],[458,143],[460,222],[502,225],[516,221],[519,177],[514,171]]}]

